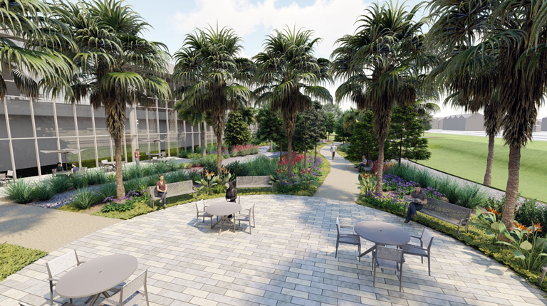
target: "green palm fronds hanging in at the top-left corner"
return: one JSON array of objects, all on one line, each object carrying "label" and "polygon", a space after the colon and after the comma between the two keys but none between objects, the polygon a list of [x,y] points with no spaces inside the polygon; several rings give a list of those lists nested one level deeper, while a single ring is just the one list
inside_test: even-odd
[{"label": "green palm fronds hanging in at the top-left corner", "polygon": [[38,97],[40,85],[72,75],[67,58],[50,47],[62,42],[71,51],[75,46],[66,36],[68,29],[51,19],[51,14],[51,7],[41,1],[0,0],[1,100],[7,93],[6,73],[11,73],[21,93],[33,98]]}]

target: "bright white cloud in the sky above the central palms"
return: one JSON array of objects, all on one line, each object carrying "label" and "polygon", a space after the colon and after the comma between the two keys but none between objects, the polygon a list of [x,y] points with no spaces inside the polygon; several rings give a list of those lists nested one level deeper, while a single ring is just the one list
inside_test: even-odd
[{"label": "bright white cloud in the sky above the central palms", "polygon": [[220,27],[229,26],[244,38],[246,56],[261,50],[264,36],[249,38],[256,33],[269,34],[273,28],[306,28],[323,38],[317,46],[316,56],[330,56],[333,43],[341,36],[355,31],[355,21],[368,6],[365,0],[317,0],[311,6],[299,6],[295,2],[276,8],[276,0],[263,0],[256,4],[249,0],[199,0],[194,11],[177,11],[172,17],[174,29],[186,34],[194,28],[209,23]]}]

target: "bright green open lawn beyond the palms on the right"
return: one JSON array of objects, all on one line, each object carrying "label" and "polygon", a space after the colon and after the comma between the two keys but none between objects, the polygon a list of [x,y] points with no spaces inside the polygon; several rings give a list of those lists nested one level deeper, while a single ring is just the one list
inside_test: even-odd
[{"label": "bright green open lawn beyond the palms on the right", "polygon": [[[488,138],[454,134],[426,133],[431,158],[420,161],[424,166],[454,174],[482,184],[486,171]],[[439,137],[439,138],[429,138]],[[547,142],[528,142],[521,150],[521,172],[519,192],[521,196],[547,202]],[[496,138],[492,186],[505,190],[509,147],[503,139]]]}]

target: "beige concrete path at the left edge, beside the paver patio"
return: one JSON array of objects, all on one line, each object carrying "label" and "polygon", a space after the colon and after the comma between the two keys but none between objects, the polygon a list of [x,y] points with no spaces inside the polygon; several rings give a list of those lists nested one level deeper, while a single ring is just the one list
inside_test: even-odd
[{"label": "beige concrete path at the left edge, beside the paver patio", "polygon": [[8,204],[0,199],[0,243],[46,252],[120,221],[85,213]]}]

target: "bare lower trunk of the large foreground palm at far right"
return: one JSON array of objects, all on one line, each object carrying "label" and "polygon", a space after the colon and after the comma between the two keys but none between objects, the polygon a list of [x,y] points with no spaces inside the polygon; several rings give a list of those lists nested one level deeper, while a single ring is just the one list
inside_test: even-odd
[{"label": "bare lower trunk of the large foreground palm at far right", "polygon": [[[505,224],[507,228],[513,226],[513,220],[515,218],[515,206],[516,200],[519,197],[519,170],[521,169],[521,147],[518,145],[509,146],[509,177],[507,178],[507,186],[505,189],[505,206],[504,216],[501,218],[501,222]],[[508,241],[507,238],[501,234],[498,237],[501,241]]]}]

